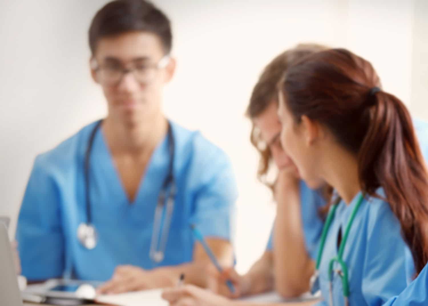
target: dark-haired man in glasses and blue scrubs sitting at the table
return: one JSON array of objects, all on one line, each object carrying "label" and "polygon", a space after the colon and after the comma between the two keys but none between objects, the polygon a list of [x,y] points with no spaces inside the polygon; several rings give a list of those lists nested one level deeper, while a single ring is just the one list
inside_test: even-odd
[{"label": "dark-haired man in glasses and blue scrubs sitting at the table", "polygon": [[[108,115],[36,158],[18,219],[22,274],[110,279],[102,293],[170,286],[181,273],[205,286],[209,260],[190,224],[232,264],[237,188],[226,154],[161,110],[175,69],[169,20],[144,0],[113,1],[93,18],[89,45]],[[89,225],[96,244],[85,246],[77,232]]]}]

